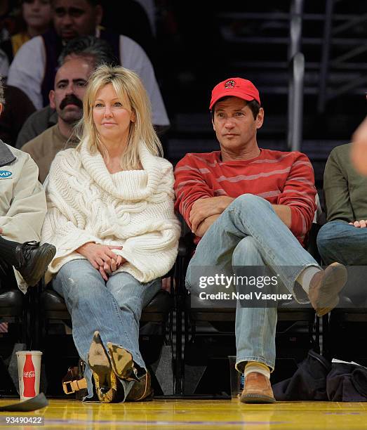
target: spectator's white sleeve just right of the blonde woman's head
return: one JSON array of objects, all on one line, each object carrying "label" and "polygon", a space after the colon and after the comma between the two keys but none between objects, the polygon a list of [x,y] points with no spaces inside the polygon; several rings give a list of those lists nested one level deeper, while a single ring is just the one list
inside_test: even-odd
[{"label": "spectator's white sleeve just right of the blonde woman's head", "polygon": [[152,103],[152,122],[154,125],[168,126],[170,124],[166,107],[159,90],[152,63],[147,54],[133,39],[120,36],[120,58],[122,65],[138,73],[147,90]]}]

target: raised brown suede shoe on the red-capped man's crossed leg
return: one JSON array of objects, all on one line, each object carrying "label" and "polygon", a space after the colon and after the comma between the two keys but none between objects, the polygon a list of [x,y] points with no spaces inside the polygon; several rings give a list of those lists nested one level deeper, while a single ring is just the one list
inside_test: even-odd
[{"label": "raised brown suede shoe on the red-capped man's crossed leg", "polygon": [[309,283],[309,301],[318,316],[330,312],[339,303],[339,293],[347,282],[347,269],[332,263],[324,271],[315,273]]}]

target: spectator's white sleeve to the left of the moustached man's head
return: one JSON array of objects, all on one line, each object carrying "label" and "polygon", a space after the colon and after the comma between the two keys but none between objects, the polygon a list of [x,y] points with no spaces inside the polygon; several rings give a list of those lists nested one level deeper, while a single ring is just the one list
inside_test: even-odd
[{"label": "spectator's white sleeve to the left of the moustached man's head", "polygon": [[44,41],[41,36],[37,36],[22,45],[8,74],[8,85],[16,86],[26,93],[37,110],[43,106],[41,85],[45,63]]}]

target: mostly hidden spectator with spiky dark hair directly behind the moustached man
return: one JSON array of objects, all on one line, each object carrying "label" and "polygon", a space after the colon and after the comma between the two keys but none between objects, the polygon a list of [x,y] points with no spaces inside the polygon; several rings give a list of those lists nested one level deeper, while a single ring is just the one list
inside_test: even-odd
[{"label": "mostly hidden spectator with spiky dark hair directly behind the moustached man", "polygon": [[[107,41],[98,39],[95,36],[84,36],[72,39],[62,50],[59,57],[59,64],[62,66],[70,58],[84,58],[93,63],[93,69],[101,64],[116,65],[111,46]],[[39,136],[46,129],[58,123],[58,112],[50,105],[34,112],[18,134],[17,148],[22,148],[25,143]]]}]

